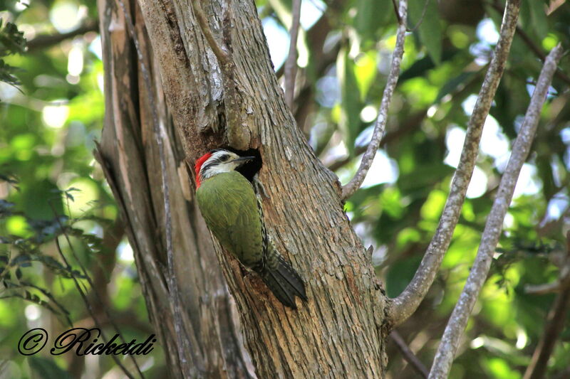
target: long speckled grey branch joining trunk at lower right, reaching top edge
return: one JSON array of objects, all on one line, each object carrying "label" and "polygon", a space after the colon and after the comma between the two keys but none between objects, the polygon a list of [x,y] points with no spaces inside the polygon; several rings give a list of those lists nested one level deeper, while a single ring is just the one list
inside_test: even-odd
[{"label": "long speckled grey branch joining trunk at lower right, reaching top edge", "polygon": [[392,300],[392,305],[388,309],[388,321],[393,326],[401,324],[418,309],[427,294],[427,290],[430,289],[443,256],[450,245],[453,230],[459,221],[467,187],[475,168],[484,121],[489,114],[494,94],[504,71],[504,65],[507,62],[517,26],[520,1],[507,1],[499,41],[467,124],[467,135],[465,136],[460,162],[452,179],[450,194],[443,208],[440,223],[437,225],[437,230],[435,230],[430,245],[427,246],[420,267],[415,272],[412,281],[398,297]]}]

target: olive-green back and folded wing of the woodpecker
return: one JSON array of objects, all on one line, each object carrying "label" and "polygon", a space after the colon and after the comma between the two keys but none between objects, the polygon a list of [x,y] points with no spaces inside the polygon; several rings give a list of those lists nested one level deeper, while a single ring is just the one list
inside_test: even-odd
[{"label": "olive-green back and folded wing of the woodpecker", "polygon": [[237,171],[202,181],[198,206],[209,230],[243,265],[251,267],[263,254],[261,219],[252,184]]}]

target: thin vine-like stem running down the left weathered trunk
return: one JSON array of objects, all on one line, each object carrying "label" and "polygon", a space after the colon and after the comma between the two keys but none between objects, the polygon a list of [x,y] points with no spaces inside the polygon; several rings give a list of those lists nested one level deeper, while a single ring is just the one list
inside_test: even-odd
[{"label": "thin vine-like stem running down the left weathered trunk", "polygon": [[[145,85],[145,90],[147,92],[146,95],[148,97],[148,103],[150,104],[150,111],[152,114],[152,129],[155,134],[155,140],[158,146],[158,156],[160,159],[160,171],[162,176],[161,190],[164,196],[163,206],[165,213],[165,239],[168,266],[168,272],[165,276],[168,285],[168,292],[170,295],[170,304],[172,305],[172,313],[174,314],[176,342],[177,346],[179,346],[177,349],[178,359],[180,360],[180,365],[182,366],[182,373],[184,373],[184,375],[189,375],[190,378],[195,378],[197,377],[197,371],[201,368],[201,365],[199,359],[196,356],[195,349],[190,346],[190,338],[187,338],[185,335],[187,331],[185,331],[184,324],[182,323],[182,306],[180,305],[180,294],[178,292],[178,285],[176,282],[176,274],[174,269],[174,252],[172,250],[172,218],[170,213],[170,188],[168,186],[165,147],[162,143],[167,133],[158,122],[155,92],[152,89],[150,73],[148,72],[148,68],[145,65],[145,60],[142,55],[142,50],[140,48],[140,43],[135,31],[133,19],[131,18],[130,13],[127,11],[125,4],[123,4],[123,0],[118,0],[118,2],[121,9],[123,9],[128,32],[131,38],[133,38],[135,50],[137,51],[140,64],[140,72],[142,73],[142,80]],[[191,2],[194,4],[194,1]],[[185,354],[190,354],[192,356],[192,363],[194,364],[190,364]]]}]

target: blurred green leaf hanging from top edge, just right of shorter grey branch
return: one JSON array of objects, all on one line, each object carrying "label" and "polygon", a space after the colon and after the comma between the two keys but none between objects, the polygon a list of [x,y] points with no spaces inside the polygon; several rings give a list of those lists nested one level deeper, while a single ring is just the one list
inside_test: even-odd
[{"label": "blurred green leaf hanging from top edge, just right of shorter grey branch", "polygon": [[[427,5],[425,1],[427,1]],[[415,27],[420,23],[417,30],[420,42],[427,49],[433,63],[439,65],[442,52],[442,31],[440,14],[437,11],[437,0],[425,1],[410,1],[410,24],[411,27]]]}]

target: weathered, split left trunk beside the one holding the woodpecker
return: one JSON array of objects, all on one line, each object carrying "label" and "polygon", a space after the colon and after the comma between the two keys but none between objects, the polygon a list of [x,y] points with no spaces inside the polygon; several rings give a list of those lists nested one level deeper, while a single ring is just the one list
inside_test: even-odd
[{"label": "weathered, split left trunk beside the one holding the woodpecker", "polygon": [[[187,174],[180,140],[172,129],[163,100],[155,56],[147,41],[140,11],[125,1],[135,23],[146,68],[150,68],[157,104],[149,104],[132,36],[128,35],[119,2],[99,1],[100,31],[105,64],[105,127],[96,156],[105,171],[127,234],[133,246],[150,320],[165,352],[171,378],[182,378],[175,335],[174,314],[167,292],[165,230],[160,160],[152,132],[150,109],[156,107],[167,161],[170,203],[174,225],[172,241],[177,262],[178,289],[184,309],[184,336],[192,351],[181,351],[196,375],[214,378],[249,378],[251,362],[244,351],[235,304],[198,210],[189,201]],[[181,279],[183,278],[183,279]]]}]

